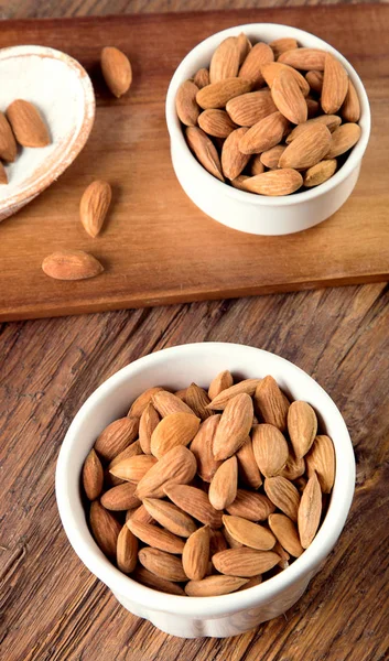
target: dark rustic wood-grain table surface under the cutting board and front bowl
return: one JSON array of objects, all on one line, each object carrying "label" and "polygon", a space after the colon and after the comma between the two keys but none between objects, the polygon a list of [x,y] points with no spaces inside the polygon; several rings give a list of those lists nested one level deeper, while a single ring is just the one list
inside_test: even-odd
[{"label": "dark rustic wood-grain table surface under the cutting board and front bowl", "polygon": [[[2,4],[1,18],[258,4],[11,0]],[[272,4],[304,0],[270,0]],[[0,326],[0,658],[389,659],[388,328],[385,283]],[[90,392],[140,356],[202,340],[261,347],[306,370],[339,407],[357,460],[346,528],[305,595],[284,617],[225,640],[173,638],[127,613],[71,549],[54,496],[60,445]]]}]

